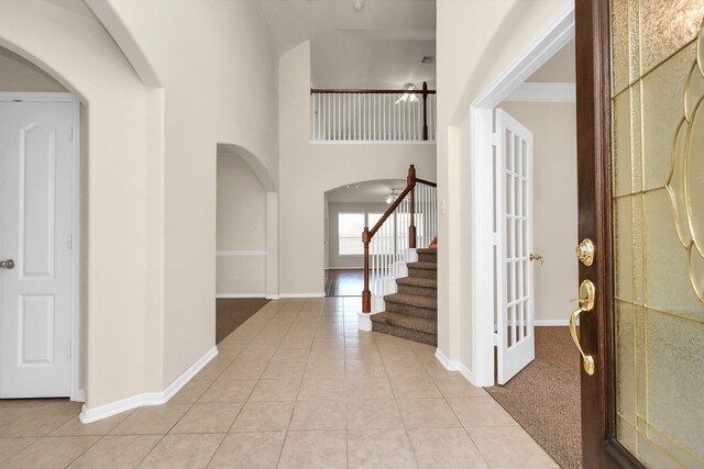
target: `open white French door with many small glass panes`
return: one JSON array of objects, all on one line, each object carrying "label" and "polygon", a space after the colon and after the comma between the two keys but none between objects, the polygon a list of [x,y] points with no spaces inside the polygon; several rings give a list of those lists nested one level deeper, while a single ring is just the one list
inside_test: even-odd
[{"label": "open white French door with many small glass panes", "polygon": [[496,110],[496,305],[499,384],[536,357],[532,265],[532,134]]}]

